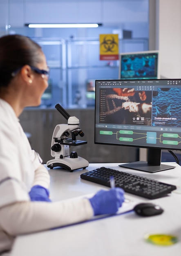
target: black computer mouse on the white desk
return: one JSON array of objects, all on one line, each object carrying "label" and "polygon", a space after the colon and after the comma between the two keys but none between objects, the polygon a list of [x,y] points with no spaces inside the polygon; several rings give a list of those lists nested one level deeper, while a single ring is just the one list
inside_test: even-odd
[{"label": "black computer mouse on the white desk", "polygon": [[163,213],[163,209],[159,205],[152,204],[152,203],[137,204],[133,210],[139,216],[145,216],[145,217],[159,215]]}]

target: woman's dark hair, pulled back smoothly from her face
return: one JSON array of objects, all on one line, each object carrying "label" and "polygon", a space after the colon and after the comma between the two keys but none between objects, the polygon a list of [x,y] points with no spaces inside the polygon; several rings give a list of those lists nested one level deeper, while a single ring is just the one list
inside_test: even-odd
[{"label": "woman's dark hair, pulled back smoothly from her face", "polygon": [[0,87],[8,86],[12,72],[24,65],[35,66],[41,62],[40,45],[21,35],[0,38]]}]

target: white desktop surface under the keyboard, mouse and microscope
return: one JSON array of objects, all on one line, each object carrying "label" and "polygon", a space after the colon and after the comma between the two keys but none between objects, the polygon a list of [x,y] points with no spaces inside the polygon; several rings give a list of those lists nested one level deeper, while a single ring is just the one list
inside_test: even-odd
[{"label": "white desktop surface under the keyboard, mouse and microscope", "polygon": [[[158,173],[144,173],[118,167],[118,164],[89,164],[86,170],[73,173],[65,170],[49,170],[51,176],[51,199],[63,200],[89,193],[105,186],[80,179],[80,174],[106,166],[151,177],[177,185],[181,181],[181,167]],[[131,211],[95,221],[62,227],[55,230],[19,236],[16,238],[12,256],[180,256],[181,255],[181,194],[156,200],[146,200],[126,193],[133,200],[141,199],[159,204],[163,214],[140,217]],[[168,247],[145,242],[145,234],[172,234],[179,242]]]}]

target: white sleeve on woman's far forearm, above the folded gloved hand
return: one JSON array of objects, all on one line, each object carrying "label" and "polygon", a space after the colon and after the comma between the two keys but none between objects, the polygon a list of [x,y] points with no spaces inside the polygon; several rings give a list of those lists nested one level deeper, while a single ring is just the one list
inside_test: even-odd
[{"label": "white sleeve on woman's far forearm, above the folded gloved hand", "polygon": [[48,189],[50,184],[50,177],[47,169],[42,164],[35,170],[34,182],[32,186],[40,185]]}]

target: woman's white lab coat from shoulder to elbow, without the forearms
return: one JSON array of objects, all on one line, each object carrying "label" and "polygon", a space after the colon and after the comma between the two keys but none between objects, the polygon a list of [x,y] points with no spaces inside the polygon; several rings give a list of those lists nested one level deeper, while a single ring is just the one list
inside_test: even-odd
[{"label": "woman's white lab coat from shoulder to elbow, without the forearms", "polygon": [[34,171],[42,161],[31,150],[13,108],[0,99],[0,207],[29,200]]}]

